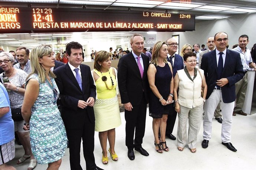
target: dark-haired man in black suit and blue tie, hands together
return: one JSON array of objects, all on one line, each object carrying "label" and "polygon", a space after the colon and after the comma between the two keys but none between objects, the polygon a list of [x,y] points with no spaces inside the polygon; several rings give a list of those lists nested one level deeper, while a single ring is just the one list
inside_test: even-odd
[{"label": "dark-haired man in black suit and blue tie, hands together", "polygon": [[96,87],[93,84],[90,67],[82,63],[83,47],[77,42],[66,45],[68,64],[56,68],[56,84],[60,91],[62,119],[69,141],[69,161],[71,170],[82,170],[80,147],[83,140],[83,156],[87,170],[102,170],[95,164],[93,105]]}]

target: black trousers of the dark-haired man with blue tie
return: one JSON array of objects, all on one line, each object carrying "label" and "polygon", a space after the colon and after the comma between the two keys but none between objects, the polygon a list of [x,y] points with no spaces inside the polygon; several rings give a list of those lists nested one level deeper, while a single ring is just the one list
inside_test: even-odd
[{"label": "black trousers of the dark-haired man with blue tie", "polygon": [[86,170],[96,168],[93,154],[94,130],[95,122],[90,122],[88,116],[85,117],[82,129],[66,129],[69,141],[69,162],[71,170],[82,170],[80,165],[81,139],[83,140],[83,156],[86,162]]}]

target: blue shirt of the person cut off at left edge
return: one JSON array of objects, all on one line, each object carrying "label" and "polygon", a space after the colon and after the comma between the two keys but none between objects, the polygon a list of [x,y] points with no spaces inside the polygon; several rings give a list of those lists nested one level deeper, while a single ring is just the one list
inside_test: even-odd
[{"label": "blue shirt of the person cut off at left edge", "polygon": [[[10,100],[6,88],[0,83],[0,108],[9,107]],[[8,143],[14,139],[14,122],[11,108],[8,113],[0,117],[0,145]]]}]

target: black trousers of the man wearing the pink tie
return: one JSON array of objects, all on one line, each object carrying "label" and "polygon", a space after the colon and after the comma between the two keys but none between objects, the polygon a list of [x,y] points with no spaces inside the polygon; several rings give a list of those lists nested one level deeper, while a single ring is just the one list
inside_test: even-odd
[{"label": "black trousers of the man wearing the pink tie", "polygon": [[[125,110],[125,145],[128,149],[141,147],[145,134],[147,102],[145,97],[141,99],[139,105],[132,105],[132,111]],[[135,138],[134,138],[135,130]]]}]

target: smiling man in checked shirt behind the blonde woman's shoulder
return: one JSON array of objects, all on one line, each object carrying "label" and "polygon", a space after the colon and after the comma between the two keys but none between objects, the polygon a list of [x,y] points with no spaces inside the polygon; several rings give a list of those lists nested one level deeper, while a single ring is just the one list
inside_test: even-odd
[{"label": "smiling man in checked shirt behind the blonde woman's shoulder", "polygon": [[15,64],[13,67],[17,69],[22,69],[27,74],[32,72],[30,60],[29,60],[29,49],[26,47],[19,47],[16,50],[16,59],[19,63]]}]

